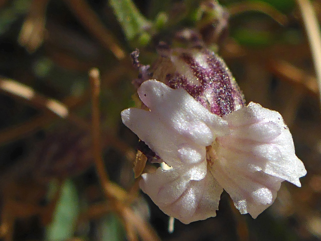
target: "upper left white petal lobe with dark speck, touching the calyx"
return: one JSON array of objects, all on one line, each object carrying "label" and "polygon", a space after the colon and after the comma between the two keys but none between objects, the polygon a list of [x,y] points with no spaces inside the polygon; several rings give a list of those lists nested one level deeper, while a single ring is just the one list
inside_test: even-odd
[{"label": "upper left white petal lobe with dark speck, touching the calyx", "polygon": [[182,88],[172,89],[160,81],[148,80],[137,92],[154,114],[199,145],[208,146],[213,142],[209,126],[215,125],[217,132],[227,129],[225,121],[209,112]]}]

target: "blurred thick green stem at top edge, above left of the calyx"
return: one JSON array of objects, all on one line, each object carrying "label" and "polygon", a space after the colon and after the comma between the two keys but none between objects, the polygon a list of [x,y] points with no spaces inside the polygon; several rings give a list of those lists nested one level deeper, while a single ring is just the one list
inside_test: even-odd
[{"label": "blurred thick green stem at top edge, above left of the calyx", "polygon": [[131,0],[109,0],[109,4],[128,40],[134,39],[151,26]]}]

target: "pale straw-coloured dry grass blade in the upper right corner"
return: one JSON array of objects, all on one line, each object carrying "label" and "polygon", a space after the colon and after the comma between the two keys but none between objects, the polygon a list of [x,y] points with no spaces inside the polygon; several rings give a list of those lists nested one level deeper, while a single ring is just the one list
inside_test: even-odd
[{"label": "pale straw-coloured dry grass blade in the upper right corner", "polygon": [[[319,92],[321,93],[321,32],[317,15],[309,0],[297,0],[302,14],[302,19],[307,31],[311,48],[312,59],[316,71]],[[320,94],[321,102],[321,94]]]}]

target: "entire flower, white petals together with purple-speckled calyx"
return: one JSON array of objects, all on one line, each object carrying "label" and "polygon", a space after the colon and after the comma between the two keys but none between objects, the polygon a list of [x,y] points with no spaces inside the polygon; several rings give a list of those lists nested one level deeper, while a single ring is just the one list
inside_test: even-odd
[{"label": "entire flower, white petals together with purple-speckled calyx", "polygon": [[281,115],[246,105],[215,53],[165,49],[150,73],[138,51],[132,57],[141,76],[138,94],[148,108],[124,110],[122,121],[157,162],[167,164],[140,181],[166,214],[183,223],[214,217],[225,189],[241,213],[256,218],[273,203],[282,181],[301,185],[306,170]]}]

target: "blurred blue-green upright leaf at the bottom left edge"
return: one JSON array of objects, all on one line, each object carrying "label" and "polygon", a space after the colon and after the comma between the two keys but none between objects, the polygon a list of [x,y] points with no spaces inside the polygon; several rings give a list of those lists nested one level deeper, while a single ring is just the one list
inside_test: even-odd
[{"label": "blurred blue-green upright leaf at the bottom left edge", "polygon": [[79,214],[77,190],[71,180],[66,180],[61,188],[52,222],[47,226],[45,240],[63,241],[74,236],[74,228]]}]

